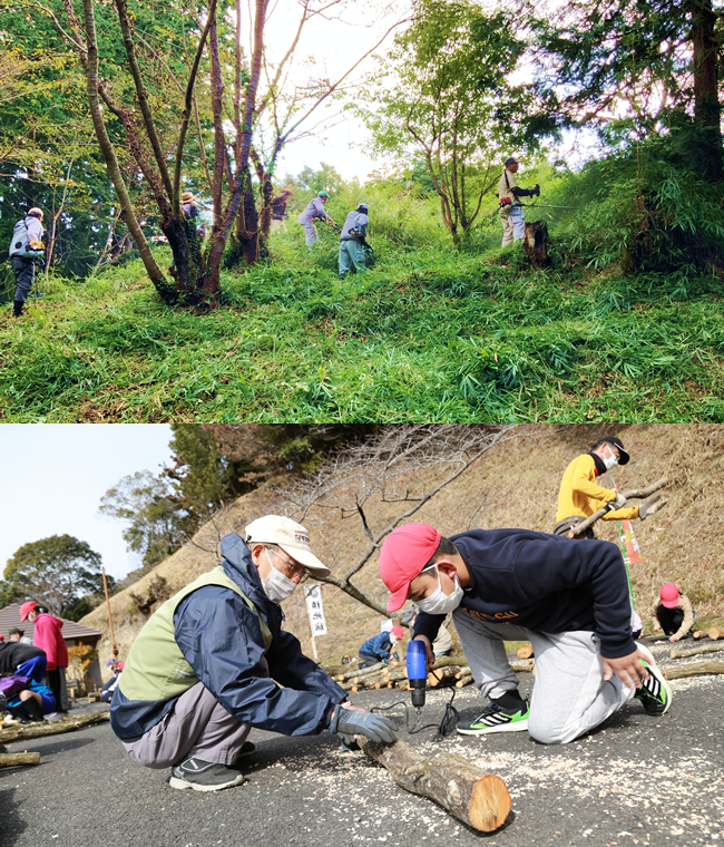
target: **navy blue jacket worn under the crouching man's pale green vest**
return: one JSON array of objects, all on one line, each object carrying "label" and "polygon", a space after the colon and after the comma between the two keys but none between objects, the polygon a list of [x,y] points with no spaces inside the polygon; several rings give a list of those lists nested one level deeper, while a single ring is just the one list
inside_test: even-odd
[{"label": "navy blue jacket worn under the crouching man's pale green vest", "polygon": [[[321,732],[346,692],[302,653],[294,635],[281,629],[282,607],[264,594],[252,554],[238,535],[222,538],[222,556],[225,573],[266,621],[272,645],[264,655],[258,617],[238,594],[206,585],[185,597],[174,614],[182,653],[205,688],[242,723],[284,736]],[[121,739],[138,738],[175,702],[176,698],[162,703],[131,701],[116,688],[112,729]]]}]

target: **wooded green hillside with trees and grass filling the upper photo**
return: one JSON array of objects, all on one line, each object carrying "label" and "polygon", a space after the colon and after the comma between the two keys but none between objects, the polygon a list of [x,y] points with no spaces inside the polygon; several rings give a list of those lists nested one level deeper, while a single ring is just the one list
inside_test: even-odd
[{"label": "wooded green hillside with trees and grass filling the upper photo", "polygon": [[[3,420],[724,417],[712,0],[334,0],[336,40],[316,0],[4,7],[0,242],[36,205],[47,261],[2,309]],[[363,183],[283,174],[348,119]],[[537,226],[501,249],[513,156]]]}]

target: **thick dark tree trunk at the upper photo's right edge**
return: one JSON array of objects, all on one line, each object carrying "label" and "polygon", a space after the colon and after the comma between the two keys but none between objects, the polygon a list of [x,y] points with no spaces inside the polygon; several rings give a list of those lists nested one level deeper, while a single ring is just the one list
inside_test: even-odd
[{"label": "thick dark tree trunk at the upper photo's right edge", "polygon": [[718,100],[717,49],[714,33],[716,12],[712,0],[693,0],[692,46],[694,50],[694,120],[699,129],[698,160],[702,174],[712,183],[724,177],[722,152],[722,106]]}]

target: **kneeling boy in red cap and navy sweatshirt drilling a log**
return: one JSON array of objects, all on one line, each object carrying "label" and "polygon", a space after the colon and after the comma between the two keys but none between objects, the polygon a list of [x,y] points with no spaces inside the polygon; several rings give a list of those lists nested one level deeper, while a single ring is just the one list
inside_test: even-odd
[{"label": "kneeling boy in red cap and navy sweatshirt drilling a log", "polygon": [[[472,529],[446,538],[429,524],[393,529],[380,552],[391,592],[420,612],[414,639],[431,639],[452,612],[477,688],[489,699],[458,732],[528,730],[541,743],[567,743],[632,698],[663,714],[672,692],[647,648],[632,639],[628,581],[620,551],[528,529]],[[530,703],[506,655],[506,641],[530,641],[536,678]]]}]

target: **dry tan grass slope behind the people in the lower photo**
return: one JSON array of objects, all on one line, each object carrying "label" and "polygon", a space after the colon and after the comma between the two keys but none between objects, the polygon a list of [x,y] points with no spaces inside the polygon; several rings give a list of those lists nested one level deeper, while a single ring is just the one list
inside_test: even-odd
[{"label": "dry tan grass slope behind the people in the lower photo", "polygon": [[[438,495],[413,519],[433,524],[443,535],[468,528],[519,526],[550,532],[555,523],[560,477],[567,464],[604,435],[618,435],[632,461],[615,469],[619,489],[636,488],[662,476],[669,479],[666,508],[634,528],[645,558],[633,568],[637,607],[644,622],[663,582],[676,582],[698,614],[724,617],[724,427],[715,425],[570,426],[540,428],[536,439],[518,439],[487,454],[479,464]],[[193,543],[160,563],[131,588],[111,598],[116,640],[121,658],[148,619],[138,611],[131,593],[148,600],[158,577],[169,595],[216,563],[213,549],[227,532],[262,515],[285,514],[270,486],[239,498],[226,515],[205,526]],[[368,512],[373,526],[382,526],[394,506],[378,504]],[[317,514],[307,520],[312,545],[331,566],[350,565],[366,546],[354,518]],[[617,541],[615,522],[598,524],[598,537]],[[360,584],[380,598],[387,591],[376,574],[376,561],[360,574]],[[380,616],[352,601],[334,586],[322,588],[330,634],[317,639],[320,659],[337,663],[343,654],[356,654],[361,642],[379,632]],[[163,596],[163,595],[162,595]],[[151,597],[153,598],[153,597]],[[151,607],[155,607],[151,604]],[[286,627],[311,653],[303,593],[284,603]],[[81,623],[108,632],[106,607],[99,606]],[[101,665],[110,655],[108,636],[99,644]]]}]

